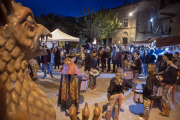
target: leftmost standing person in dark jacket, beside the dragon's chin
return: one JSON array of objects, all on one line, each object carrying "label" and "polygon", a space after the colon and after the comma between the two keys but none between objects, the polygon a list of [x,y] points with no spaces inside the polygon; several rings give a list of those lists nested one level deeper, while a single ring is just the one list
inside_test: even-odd
[{"label": "leftmost standing person in dark jacket, beside the dragon's chin", "polygon": [[[46,50],[46,51],[47,51],[47,53],[49,53],[48,50]],[[51,60],[51,54],[41,56],[41,62],[42,62],[43,67],[44,67],[44,79],[46,79],[46,69],[48,67],[48,64],[49,64],[50,60]]]}]

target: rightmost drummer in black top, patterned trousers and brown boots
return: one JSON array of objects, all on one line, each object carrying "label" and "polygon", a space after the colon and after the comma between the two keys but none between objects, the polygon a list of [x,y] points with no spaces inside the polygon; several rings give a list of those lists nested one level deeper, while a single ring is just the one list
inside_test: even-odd
[{"label": "rightmost drummer in black top, patterned trousers and brown boots", "polygon": [[168,59],[168,67],[164,71],[163,78],[161,78],[164,82],[162,95],[162,116],[169,116],[172,89],[174,84],[176,83],[178,76],[178,67],[175,65],[175,63],[177,62],[176,58],[170,56]]}]

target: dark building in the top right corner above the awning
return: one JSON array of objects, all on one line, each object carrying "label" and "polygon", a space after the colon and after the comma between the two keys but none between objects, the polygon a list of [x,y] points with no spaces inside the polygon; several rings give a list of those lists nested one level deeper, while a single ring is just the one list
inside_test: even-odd
[{"label": "dark building in the top right corner above the awning", "polygon": [[180,0],[157,0],[159,19],[163,21],[161,36],[180,36]]}]

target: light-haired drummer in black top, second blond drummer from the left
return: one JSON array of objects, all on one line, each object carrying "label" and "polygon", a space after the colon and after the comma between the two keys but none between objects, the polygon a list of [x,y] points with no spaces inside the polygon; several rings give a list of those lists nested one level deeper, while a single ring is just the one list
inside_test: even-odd
[{"label": "light-haired drummer in black top, second blond drummer from the left", "polygon": [[143,118],[139,117],[139,120],[149,120],[151,100],[156,98],[156,93],[158,90],[157,88],[161,86],[161,81],[158,76],[157,67],[153,63],[148,64],[147,76],[148,77],[146,79],[146,85],[143,86],[143,96],[144,96]]}]

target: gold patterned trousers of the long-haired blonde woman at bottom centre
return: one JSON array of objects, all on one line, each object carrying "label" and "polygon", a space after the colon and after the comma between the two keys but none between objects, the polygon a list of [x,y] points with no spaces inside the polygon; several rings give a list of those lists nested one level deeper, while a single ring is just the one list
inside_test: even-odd
[{"label": "gold patterned trousers of the long-haired blonde woman at bottom centre", "polygon": [[123,98],[123,94],[115,94],[111,95],[109,98],[109,105],[106,110],[106,120],[111,120],[113,108],[115,108],[115,114],[113,120],[118,120],[119,111],[121,109],[121,100]]}]

